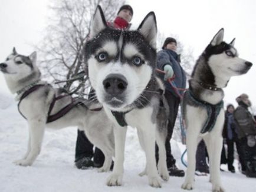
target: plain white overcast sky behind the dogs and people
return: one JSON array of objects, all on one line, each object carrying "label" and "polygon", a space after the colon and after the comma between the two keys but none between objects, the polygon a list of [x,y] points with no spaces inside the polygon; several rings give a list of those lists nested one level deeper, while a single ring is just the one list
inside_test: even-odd
[{"label": "plain white overcast sky behind the dogs and people", "polygon": [[[50,0],[1,0],[0,6],[0,59],[5,60],[16,47],[28,55],[44,35]],[[157,28],[166,36],[178,35],[180,41],[193,49],[195,58],[204,50],[220,28],[225,29],[224,40],[236,38],[239,56],[256,65],[256,1],[254,0],[155,0],[127,1],[133,7],[133,28],[144,16],[154,11]],[[225,102],[236,105],[235,98],[245,92],[256,105],[256,67],[246,75],[233,77],[225,88]],[[1,90],[6,90],[0,74]]]}]

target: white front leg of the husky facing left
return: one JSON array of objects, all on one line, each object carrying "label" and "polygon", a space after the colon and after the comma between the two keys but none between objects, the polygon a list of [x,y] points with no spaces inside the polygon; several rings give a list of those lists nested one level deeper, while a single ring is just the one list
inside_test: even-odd
[{"label": "white front leg of the husky facing left", "polygon": [[15,164],[22,166],[32,165],[41,150],[42,138],[44,136],[45,120],[28,121],[30,151],[27,158],[15,161]]}]

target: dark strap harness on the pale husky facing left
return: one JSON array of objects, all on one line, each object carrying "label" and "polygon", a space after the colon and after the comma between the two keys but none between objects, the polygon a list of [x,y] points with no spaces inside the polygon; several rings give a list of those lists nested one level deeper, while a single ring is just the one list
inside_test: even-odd
[{"label": "dark strap harness on the pale husky facing left", "polygon": [[[40,85],[34,85],[33,87],[29,88],[27,91],[24,92],[24,94],[21,95],[21,98],[19,100],[18,103],[18,111],[19,113],[22,115],[22,117],[24,117],[26,120],[27,118],[22,114],[22,112],[19,110],[19,104],[21,103],[21,101],[27,97],[29,94],[31,94],[32,92],[38,90],[41,87],[44,86],[51,86],[50,84],[40,84]],[[77,105],[84,105],[83,102],[76,100],[76,98],[71,97],[71,103],[66,105],[65,107],[63,107],[60,111],[58,111],[57,113],[50,115],[52,109],[54,108],[54,104],[56,101],[60,100],[61,98],[64,97],[69,97],[70,95],[60,95],[58,97],[55,97],[54,94],[54,98],[52,99],[52,102],[50,104],[49,110],[48,110],[48,115],[47,115],[47,121],[46,123],[51,123],[52,121],[56,121],[58,120],[58,118],[63,117],[65,114],[67,114],[71,109],[73,109],[74,107],[76,107]],[[95,109],[91,109],[90,111],[100,111],[103,107],[99,107],[99,108],[95,108]]]}]

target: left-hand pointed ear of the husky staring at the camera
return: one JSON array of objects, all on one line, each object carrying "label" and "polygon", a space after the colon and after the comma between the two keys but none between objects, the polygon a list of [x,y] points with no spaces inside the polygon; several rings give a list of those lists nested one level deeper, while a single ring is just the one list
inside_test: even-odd
[{"label": "left-hand pointed ear of the husky staring at the camera", "polygon": [[106,27],[107,27],[107,22],[106,22],[105,16],[103,14],[101,6],[98,5],[94,13],[93,19],[91,20],[89,39],[95,37],[95,35],[99,34],[99,32]]}]

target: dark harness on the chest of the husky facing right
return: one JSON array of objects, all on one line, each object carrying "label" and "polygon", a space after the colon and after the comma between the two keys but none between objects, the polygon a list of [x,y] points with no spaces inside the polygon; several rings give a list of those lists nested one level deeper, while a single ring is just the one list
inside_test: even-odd
[{"label": "dark harness on the chest of the husky facing right", "polygon": [[198,98],[195,98],[195,96],[193,95],[193,93],[190,89],[188,91],[186,91],[186,93],[188,94],[189,98],[196,105],[199,105],[200,107],[205,108],[207,111],[208,118],[207,118],[202,130],[200,131],[200,133],[203,134],[203,133],[212,131],[212,128],[214,128],[214,125],[216,123],[216,118],[219,115],[219,111],[221,111],[221,109],[224,106],[223,100],[221,100],[221,102],[219,102],[218,104],[212,105],[209,102],[201,101]]}]

